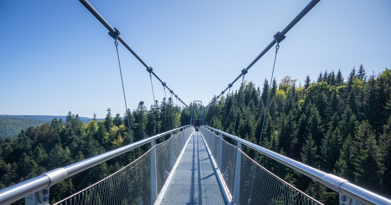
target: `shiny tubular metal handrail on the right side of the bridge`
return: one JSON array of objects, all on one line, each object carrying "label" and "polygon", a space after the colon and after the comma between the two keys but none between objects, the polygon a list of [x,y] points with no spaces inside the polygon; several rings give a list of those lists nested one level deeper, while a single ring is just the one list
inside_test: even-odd
[{"label": "shiny tubular metal handrail on the right side of the bridge", "polygon": [[229,133],[226,133],[221,130],[217,130],[215,128],[212,128],[210,126],[203,125],[201,126],[203,128],[208,128],[210,130],[217,131],[227,137],[232,138],[233,140],[236,140],[237,142],[240,142],[255,151],[258,151],[265,156],[272,158],[280,163],[282,163],[285,166],[289,166],[290,168],[312,178],[317,180],[318,182],[321,182],[326,187],[337,191],[338,193],[341,193],[347,197],[350,197],[356,201],[359,201],[363,204],[371,204],[371,205],[380,205],[380,204],[391,204],[391,200],[381,196],[379,194],[373,193],[367,189],[364,189],[362,187],[359,187],[355,184],[352,184],[346,179],[343,179],[341,177],[335,176],[333,174],[329,174],[326,172],[322,172],[321,170],[318,170],[316,168],[313,168],[311,166],[305,165],[303,163],[300,163],[298,161],[295,161],[293,159],[287,158],[286,156],[283,156],[281,154],[278,154],[276,152],[270,151],[264,147],[258,146],[256,144],[253,144],[251,142],[248,142],[242,138],[239,138],[237,136],[231,135]]}]

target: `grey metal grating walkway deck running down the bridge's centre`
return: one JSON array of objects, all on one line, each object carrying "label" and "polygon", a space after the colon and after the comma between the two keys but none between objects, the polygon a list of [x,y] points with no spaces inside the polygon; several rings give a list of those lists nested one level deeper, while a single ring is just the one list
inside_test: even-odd
[{"label": "grey metal grating walkway deck running down the bridge's centre", "polygon": [[225,204],[200,132],[190,137],[161,204]]}]

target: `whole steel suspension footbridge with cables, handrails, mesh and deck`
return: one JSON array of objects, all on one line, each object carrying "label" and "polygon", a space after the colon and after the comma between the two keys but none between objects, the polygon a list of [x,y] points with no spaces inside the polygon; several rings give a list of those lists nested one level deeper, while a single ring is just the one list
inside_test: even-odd
[{"label": "whole steel suspension footbridge with cables, handrails, mesh and deck", "polygon": [[[255,60],[205,107],[201,101],[193,101],[191,107],[184,103],[120,37],[120,32],[116,28],[111,27],[89,2],[79,1],[109,30],[109,35],[115,39],[115,46],[118,45],[118,41],[121,42],[147,69],[151,80],[154,75],[164,88],[167,88],[171,95],[179,100],[181,106],[192,109],[189,125],[132,142],[124,147],[51,170],[33,179],[2,189],[0,190],[0,204],[13,203],[22,198],[25,199],[25,204],[49,204],[51,186],[145,144],[151,144],[151,149],[140,158],[134,159],[132,163],[117,172],[98,182],[91,183],[91,186],[55,204],[322,204],[318,199],[312,198],[262,167],[242,151],[242,146],[246,146],[258,154],[263,154],[265,157],[275,160],[276,163],[281,163],[332,189],[339,194],[338,199],[341,205],[391,204],[390,199],[359,187],[348,180],[322,172],[204,124],[203,109],[224,95],[227,90],[230,90],[240,77],[243,80],[244,75],[248,73],[254,63],[275,44],[277,44],[275,52],[277,55],[279,44],[285,39],[285,34],[320,0],[312,0],[282,32],[277,32],[273,41]],[[118,63],[120,66],[119,57]],[[124,100],[126,105],[125,91]],[[196,107],[195,103],[200,103],[200,107]],[[267,109],[267,103],[265,109]],[[195,112],[201,113],[199,118],[196,118]],[[156,120],[158,120],[157,117]],[[194,127],[194,125],[200,127]],[[164,142],[158,140],[168,135],[169,138]],[[160,143],[156,144],[156,140]]]}]

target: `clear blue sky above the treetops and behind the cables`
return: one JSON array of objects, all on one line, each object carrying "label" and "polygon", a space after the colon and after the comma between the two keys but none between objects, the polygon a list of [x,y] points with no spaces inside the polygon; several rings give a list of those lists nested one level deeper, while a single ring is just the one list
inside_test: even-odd
[{"label": "clear blue sky above the treetops and behind the cables", "polygon": [[[309,0],[167,0],[90,3],[186,103],[207,104]],[[391,67],[391,1],[321,0],[280,44],[275,77]],[[77,0],[0,2],[0,114],[104,117],[125,112],[117,53],[106,28]],[[152,104],[149,74],[119,45],[128,108]],[[246,75],[270,79],[274,49]],[[156,79],[155,98],[163,88]],[[239,88],[239,82],[233,89]],[[174,101],[175,102],[175,101]]]}]

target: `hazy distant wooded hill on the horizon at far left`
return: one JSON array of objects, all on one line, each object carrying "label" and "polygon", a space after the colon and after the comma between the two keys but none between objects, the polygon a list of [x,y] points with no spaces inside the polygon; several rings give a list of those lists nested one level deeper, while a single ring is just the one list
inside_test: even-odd
[{"label": "hazy distant wooded hill on the horizon at far left", "polygon": [[[51,116],[51,115],[0,115],[0,138],[8,137],[15,138],[21,130],[25,130],[30,126],[36,127],[38,124],[50,123],[52,119],[63,119],[65,123],[66,116]],[[80,117],[83,123],[89,123],[92,118]],[[104,119],[98,119],[104,120]]]}]

